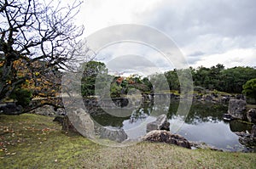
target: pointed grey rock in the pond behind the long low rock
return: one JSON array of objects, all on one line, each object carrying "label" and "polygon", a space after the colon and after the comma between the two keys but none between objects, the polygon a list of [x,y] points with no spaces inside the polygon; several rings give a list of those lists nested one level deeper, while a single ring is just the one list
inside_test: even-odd
[{"label": "pointed grey rock in the pond behind the long low rock", "polygon": [[160,115],[155,121],[149,122],[147,124],[147,132],[153,130],[170,130],[170,122],[168,122],[166,115]]}]

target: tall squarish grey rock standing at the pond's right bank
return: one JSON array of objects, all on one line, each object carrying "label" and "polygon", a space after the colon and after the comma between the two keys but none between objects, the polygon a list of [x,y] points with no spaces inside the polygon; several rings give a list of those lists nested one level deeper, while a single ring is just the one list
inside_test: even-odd
[{"label": "tall squarish grey rock standing at the pond's right bank", "polygon": [[246,111],[246,101],[242,99],[230,99],[228,113],[236,119],[244,119]]}]

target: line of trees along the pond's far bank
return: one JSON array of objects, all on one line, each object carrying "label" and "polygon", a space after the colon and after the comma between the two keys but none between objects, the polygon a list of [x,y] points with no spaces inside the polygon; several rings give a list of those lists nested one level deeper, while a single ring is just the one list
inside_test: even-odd
[{"label": "line of trees along the pond's far bank", "polygon": [[[102,62],[90,61],[84,65],[82,77],[82,95],[84,97],[95,95],[96,79],[99,93],[108,88],[110,95],[119,97],[131,90],[139,90],[142,93],[154,93],[154,91],[177,90],[180,91],[179,75],[190,75],[196,89],[218,90],[226,93],[241,93],[242,86],[253,78],[256,78],[256,69],[252,67],[233,67],[225,69],[224,65],[215,65],[211,68],[204,66],[186,70],[169,70],[164,74],[154,74],[148,77],[131,75],[128,77],[111,76],[108,68]],[[109,81],[111,82],[110,84]],[[183,83],[185,84],[185,83]]]}]

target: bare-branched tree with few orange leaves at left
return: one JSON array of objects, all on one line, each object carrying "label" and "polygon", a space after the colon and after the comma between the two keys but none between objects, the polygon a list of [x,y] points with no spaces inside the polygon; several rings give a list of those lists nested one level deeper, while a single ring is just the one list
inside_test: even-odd
[{"label": "bare-branched tree with few orange leaves at left", "polygon": [[73,21],[81,2],[60,2],[1,0],[0,101],[27,80],[48,75],[54,81],[53,70],[66,70],[75,60],[84,26]]}]

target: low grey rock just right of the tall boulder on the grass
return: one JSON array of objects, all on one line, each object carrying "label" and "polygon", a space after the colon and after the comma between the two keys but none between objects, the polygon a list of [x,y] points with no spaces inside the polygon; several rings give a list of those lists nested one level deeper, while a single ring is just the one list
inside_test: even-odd
[{"label": "low grey rock just right of the tall boulder on the grass", "polygon": [[108,138],[110,140],[116,141],[116,142],[123,142],[125,139],[128,138],[127,134],[125,133],[125,130],[123,128],[121,129],[112,129],[112,128],[105,128],[101,127],[100,130],[100,138]]}]

